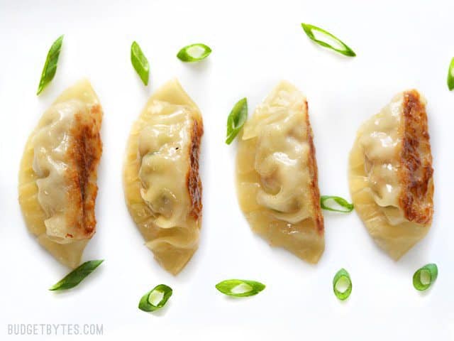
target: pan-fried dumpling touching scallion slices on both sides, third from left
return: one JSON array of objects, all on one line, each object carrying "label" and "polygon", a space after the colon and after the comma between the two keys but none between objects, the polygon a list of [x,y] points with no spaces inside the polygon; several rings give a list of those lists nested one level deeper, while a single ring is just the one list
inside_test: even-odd
[{"label": "pan-fried dumpling touching scallion slices on both sides, third from left", "polygon": [[246,122],[238,142],[238,200],[271,245],[317,263],[325,239],[306,98],[280,82]]}]

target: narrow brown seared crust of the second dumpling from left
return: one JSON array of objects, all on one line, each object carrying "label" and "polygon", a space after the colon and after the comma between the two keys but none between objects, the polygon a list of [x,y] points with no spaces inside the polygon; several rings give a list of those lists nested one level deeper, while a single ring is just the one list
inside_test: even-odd
[{"label": "narrow brown seared crust of the second dumpling from left", "polygon": [[201,136],[204,134],[204,125],[201,119],[194,119],[192,127],[192,144],[189,148],[191,165],[187,173],[187,188],[191,198],[190,215],[198,220],[201,216],[201,180],[199,175],[199,153]]}]

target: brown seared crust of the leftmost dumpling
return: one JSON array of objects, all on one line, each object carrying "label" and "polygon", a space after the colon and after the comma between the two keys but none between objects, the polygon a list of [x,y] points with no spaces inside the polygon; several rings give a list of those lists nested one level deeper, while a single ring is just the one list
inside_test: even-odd
[{"label": "brown seared crust of the leftmost dumpling", "polygon": [[[92,107],[90,116],[75,115],[70,135],[70,168],[67,179],[70,183],[68,197],[72,202],[73,226],[82,238],[90,238],[95,232],[94,203],[98,186],[97,168],[102,153],[99,129],[102,109],[99,104]],[[74,237],[68,234],[67,237]]]}]

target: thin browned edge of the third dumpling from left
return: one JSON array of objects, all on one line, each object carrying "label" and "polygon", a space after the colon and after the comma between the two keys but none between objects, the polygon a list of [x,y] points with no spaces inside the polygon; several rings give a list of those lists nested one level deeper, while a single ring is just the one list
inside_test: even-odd
[{"label": "thin browned edge of the third dumpling from left", "polygon": [[314,146],[314,134],[312,133],[311,122],[309,121],[309,107],[306,104],[306,126],[307,126],[307,137],[309,141],[309,174],[311,175],[311,197],[312,205],[314,207],[314,220],[319,234],[323,234],[323,215],[321,214],[320,207],[320,190],[319,190],[319,171],[317,168],[317,162],[315,158],[315,146]]}]

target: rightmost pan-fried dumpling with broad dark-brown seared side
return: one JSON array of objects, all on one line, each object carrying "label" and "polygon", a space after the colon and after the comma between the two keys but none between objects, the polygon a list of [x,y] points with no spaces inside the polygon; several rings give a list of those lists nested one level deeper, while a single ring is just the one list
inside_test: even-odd
[{"label": "rightmost pan-fried dumpling with broad dark-brown seared side", "polygon": [[375,242],[399,259],[432,222],[433,168],[426,100],[397,94],[358,131],[350,154],[355,209]]}]

